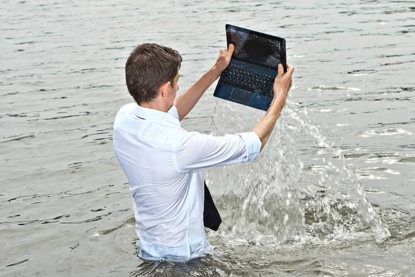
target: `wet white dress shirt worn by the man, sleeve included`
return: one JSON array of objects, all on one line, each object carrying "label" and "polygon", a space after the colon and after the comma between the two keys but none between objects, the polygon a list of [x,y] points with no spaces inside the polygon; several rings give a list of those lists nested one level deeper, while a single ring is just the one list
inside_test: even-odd
[{"label": "wet white dress shirt worn by the man, sleeve included", "polygon": [[114,152],[133,196],[139,256],[188,260],[210,251],[203,169],[252,162],[261,149],[257,134],[187,132],[175,106],[164,113],[135,103],[120,109],[113,127]]}]

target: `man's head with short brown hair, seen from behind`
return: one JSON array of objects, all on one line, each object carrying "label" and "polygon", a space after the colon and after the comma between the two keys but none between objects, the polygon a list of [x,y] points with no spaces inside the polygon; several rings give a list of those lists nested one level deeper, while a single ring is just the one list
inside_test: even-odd
[{"label": "man's head with short brown hair, seen from behind", "polygon": [[125,64],[127,88],[137,104],[160,96],[172,106],[178,90],[181,61],[181,55],[172,48],[158,44],[137,46]]}]

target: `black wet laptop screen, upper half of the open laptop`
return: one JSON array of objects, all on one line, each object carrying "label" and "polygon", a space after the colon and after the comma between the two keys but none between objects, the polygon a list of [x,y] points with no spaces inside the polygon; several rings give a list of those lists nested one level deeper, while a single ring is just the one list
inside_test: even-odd
[{"label": "black wet laptop screen, upper half of the open laptop", "polygon": [[278,64],[286,64],[285,39],[226,25],[228,44],[235,46],[233,58],[277,69]]}]

